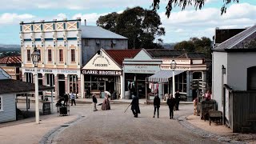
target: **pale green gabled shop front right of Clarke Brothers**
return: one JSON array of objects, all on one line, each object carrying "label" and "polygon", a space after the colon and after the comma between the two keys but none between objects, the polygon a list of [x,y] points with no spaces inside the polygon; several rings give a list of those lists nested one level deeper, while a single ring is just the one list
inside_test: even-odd
[{"label": "pale green gabled shop front right of Clarke Brothers", "polygon": [[146,98],[146,91],[158,93],[158,87],[146,86],[146,78],[160,70],[161,59],[154,59],[142,49],[134,58],[125,58],[123,61],[123,98],[130,99],[132,94],[139,98]]}]

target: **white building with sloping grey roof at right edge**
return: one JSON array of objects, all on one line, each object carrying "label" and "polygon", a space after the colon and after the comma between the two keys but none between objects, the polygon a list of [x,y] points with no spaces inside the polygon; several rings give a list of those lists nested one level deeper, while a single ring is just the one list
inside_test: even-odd
[{"label": "white building with sloping grey roof at right edge", "polygon": [[[234,111],[235,105],[237,105],[237,103],[242,103],[242,101],[233,102],[233,98],[238,98],[245,94],[244,99],[246,99],[246,93],[249,94],[250,91],[256,90],[255,39],[256,26],[251,26],[234,35],[234,37],[227,39],[225,42],[218,45],[216,44],[213,49],[213,98],[217,101],[218,110],[223,112],[226,121],[233,123],[234,125],[237,124],[236,122],[233,122],[235,121],[234,117],[237,112]],[[237,95],[237,97],[233,94],[231,97],[232,92],[227,88],[224,88],[224,85],[229,86],[230,88],[228,89],[236,91],[236,93],[242,93]],[[255,104],[255,102],[252,103]],[[249,106],[250,102],[244,104]],[[249,107],[250,109],[246,111],[252,110],[251,112],[256,112],[256,110],[253,110],[253,106]]]}]

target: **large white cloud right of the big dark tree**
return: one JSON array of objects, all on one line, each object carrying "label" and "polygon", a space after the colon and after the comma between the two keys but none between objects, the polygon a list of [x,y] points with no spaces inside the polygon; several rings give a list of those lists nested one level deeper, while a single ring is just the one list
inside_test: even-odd
[{"label": "large white cloud right of the big dark tree", "polygon": [[166,28],[164,42],[180,42],[191,37],[212,38],[216,27],[244,28],[253,26],[256,22],[256,6],[248,3],[230,5],[227,13],[221,15],[220,8],[204,8],[202,10],[183,10],[173,12],[166,18],[160,13],[162,25]]}]

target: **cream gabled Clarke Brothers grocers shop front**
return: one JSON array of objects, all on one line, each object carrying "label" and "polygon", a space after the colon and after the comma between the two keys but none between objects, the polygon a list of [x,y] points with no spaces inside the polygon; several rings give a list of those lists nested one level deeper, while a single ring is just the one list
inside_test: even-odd
[{"label": "cream gabled Clarke Brothers grocers shop front", "polygon": [[122,66],[118,65],[105,50],[99,50],[81,70],[82,98],[89,94],[103,98],[104,91],[117,99],[122,94]]}]

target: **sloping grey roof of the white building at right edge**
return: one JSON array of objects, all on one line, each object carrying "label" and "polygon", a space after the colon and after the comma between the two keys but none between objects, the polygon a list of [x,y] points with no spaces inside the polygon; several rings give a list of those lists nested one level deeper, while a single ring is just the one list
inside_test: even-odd
[{"label": "sloping grey roof of the white building at right edge", "polygon": [[243,30],[241,33],[234,35],[234,37],[227,39],[218,46],[214,47],[213,50],[224,50],[224,49],[237,49],[236,46],[239,42],[242,42],[245,38],[248,38],[251,34],[256,32],[256,25]]}]

